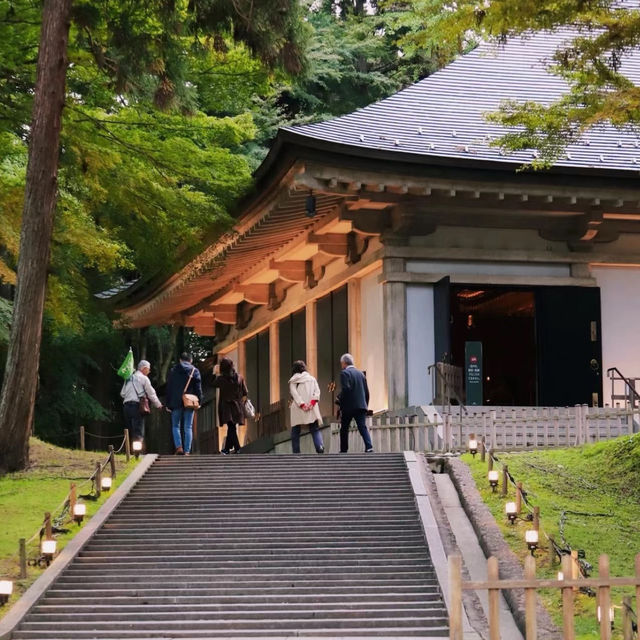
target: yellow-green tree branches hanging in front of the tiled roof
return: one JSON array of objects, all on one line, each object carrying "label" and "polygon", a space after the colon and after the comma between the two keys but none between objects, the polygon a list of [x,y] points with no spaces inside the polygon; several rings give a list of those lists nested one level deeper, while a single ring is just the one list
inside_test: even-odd
[{"label": "yellow-green tree branches hanging in front of the tiled roof", "polygon": [[566,80],[566,95],[551,105],[506,102],[491,117],[519,128],[499,140],[500,146],[540,150],[534,167],[553,164],[594,125],[640,122],[640,89],[622,66],[625,55],[640,45],[640,11],[613,0],[412,0],[410,5],[423,19],[425,32],[409,38],[418,46],[439,47],[445,58],[475,39],[504,42],[572,25],[574,36],[555,52],[549,67]]}]

